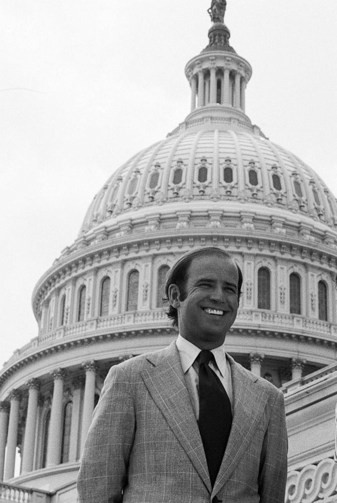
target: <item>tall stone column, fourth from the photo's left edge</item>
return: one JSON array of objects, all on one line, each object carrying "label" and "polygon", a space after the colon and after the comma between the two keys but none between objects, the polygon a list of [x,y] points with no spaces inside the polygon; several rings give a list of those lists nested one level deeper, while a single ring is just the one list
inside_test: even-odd
[{"label": "tall stone column, fourth from the photo's left edge", "polygon": [[60,463],[62,447],[61,428],[64,371],[62,369],[55,369],[51,372],[51,376],[54,379],[54,390],[50,411],[47,466],[53,466]]}]

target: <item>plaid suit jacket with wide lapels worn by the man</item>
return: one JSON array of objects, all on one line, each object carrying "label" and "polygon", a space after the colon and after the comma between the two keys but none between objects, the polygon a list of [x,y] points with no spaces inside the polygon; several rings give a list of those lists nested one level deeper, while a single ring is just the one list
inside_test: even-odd
[{"label": "plaid suit jacket with wide lapels worn by the man", "polygon": [[230,365],[233,421],[213,489],[173,342],[110,369],[85,443],[79,502],[283,503],[283,394],[232,358]]}]

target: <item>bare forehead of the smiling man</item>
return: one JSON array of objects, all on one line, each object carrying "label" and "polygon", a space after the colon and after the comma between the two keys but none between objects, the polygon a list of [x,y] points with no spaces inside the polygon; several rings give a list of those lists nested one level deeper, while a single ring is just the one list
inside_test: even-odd
[{"label": "bare forehead of the smiling man", "polygon": [[216,276],[217,278],[226,281],[238,282],[239,273],[237,266],[230,257],[226,257],[220,253],[197,255],[193,257],[187,270],[187,279]]}]

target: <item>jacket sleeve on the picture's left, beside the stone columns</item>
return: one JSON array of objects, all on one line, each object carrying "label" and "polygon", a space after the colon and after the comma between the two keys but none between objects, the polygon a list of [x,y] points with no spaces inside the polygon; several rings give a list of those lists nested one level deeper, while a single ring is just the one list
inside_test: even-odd
[{"label": "jacket sleeve on the picture's left, beside the stone columns", "polygon": [[77,480],[79,503],[121,503],[136,420],[130,383],[112,367],[93,413]]}]

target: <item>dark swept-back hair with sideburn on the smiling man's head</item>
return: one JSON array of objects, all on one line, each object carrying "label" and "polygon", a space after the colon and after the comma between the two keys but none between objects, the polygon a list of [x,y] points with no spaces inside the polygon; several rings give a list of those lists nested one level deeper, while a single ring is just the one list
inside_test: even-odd
[{"label": "dark swept-back hair with sideburn on the smiling man's head", "polygon": [[[201,248],[195,248],[190,252],[185,253],[177,262],[171,267],[171,269],[167,272],[165,278],[165,297],[164,301],[168,302],[168,288],[171,284],[176,284],[179,288],[180,299],[185,299],[185,282],[187,279],[188,268],[191,265],[193,259],[199,255],[212,255],[212,254],[220,254],[223,257],[232,260],[232,257],[226,250],[218,248],[217,246],[203,246]],[[237,266],[239,279],[238,279],[238,305],[240,302],[241,296],[241,286],[242,286],[242,272],[238,264],[234,262]],[[173,307],[171,304],[168,306],[168,311],[166,312],[167,316],[172,319],[172,326],[178,327],[178,310]]]}]

